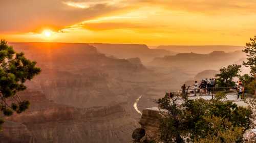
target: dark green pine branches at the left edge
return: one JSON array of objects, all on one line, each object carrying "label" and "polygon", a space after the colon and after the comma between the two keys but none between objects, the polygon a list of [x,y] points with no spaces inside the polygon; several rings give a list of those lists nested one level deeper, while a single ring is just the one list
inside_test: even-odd
[{"label": "dark green pine branches at the left edge", "polygon": [[1,40],[0,110],[5,116],[11,116],[13,111],[21,113],[28,108],[29,101],[20,99],[17,93],[26,90],[25,81],[39,73],[36,62],[26,59],[23,52],[16,53],[7,41]]}]

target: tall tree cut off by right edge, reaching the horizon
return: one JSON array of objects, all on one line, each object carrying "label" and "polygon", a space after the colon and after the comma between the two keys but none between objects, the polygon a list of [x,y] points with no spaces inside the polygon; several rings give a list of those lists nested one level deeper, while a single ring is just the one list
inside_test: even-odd
[{"label": "tall tree cut off by right edge, reaching the horizon", "polygon": [[243,62],[243,65],[250,67],[251,73],[256,73],[256,36],[250,38],[250,42],[246,43],[243,52],[248,56],[247,61]]}]

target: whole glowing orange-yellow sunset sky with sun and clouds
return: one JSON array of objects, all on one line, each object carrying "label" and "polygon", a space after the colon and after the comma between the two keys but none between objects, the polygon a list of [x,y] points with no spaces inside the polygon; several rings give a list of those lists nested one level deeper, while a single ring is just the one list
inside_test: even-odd
[{"label": "whole glowing orange-yellow sunset sky with sun and clouds", "polygon": [[8,41],[245,45],[254,35],[254,0],[0,0]]}]

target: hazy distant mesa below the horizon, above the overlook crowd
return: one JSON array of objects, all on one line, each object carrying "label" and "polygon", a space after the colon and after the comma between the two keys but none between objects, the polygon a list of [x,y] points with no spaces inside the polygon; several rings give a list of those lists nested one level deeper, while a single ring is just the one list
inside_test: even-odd
[{"label": "hazy distant mesa below the horizon, above the overlook crowd", "polygon": [[[242,51],[224,52],[213,51],[208,54],[178,53],[177,55],[155,58],[150,65],[157,67],[177,67],[190,74],[197,74],[205,69],[219,70],[222,67],[232,65],[239,59],[245,58]],[[225,61],[225,62],[224,62]]]}]

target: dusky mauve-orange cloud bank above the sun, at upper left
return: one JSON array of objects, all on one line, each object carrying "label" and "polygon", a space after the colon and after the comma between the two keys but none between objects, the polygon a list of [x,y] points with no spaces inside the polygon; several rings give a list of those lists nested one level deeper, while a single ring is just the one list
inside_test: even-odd
[{"label": "dusky mauve-orange cloud bank above the sun, at upper left", "polygon": [[41,28],[59,30],[80,21],[118,11],[119,7],[95,4],[77,9],[60,0],[12,0],[0,2],[0,32],[39,32]]}]

